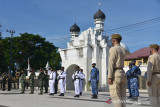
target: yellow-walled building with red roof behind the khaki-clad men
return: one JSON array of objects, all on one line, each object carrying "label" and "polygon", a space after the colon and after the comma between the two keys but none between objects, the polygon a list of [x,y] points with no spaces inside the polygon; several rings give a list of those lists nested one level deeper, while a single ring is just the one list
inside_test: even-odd
[{"label": "yellow-walled building with red roof behind the khaki-clad men", "polygon": [[[160,53],[160,50],[159,50]],[[129,68],[129,63],[132,62],[132,60],[136,60],[136,65],[140,65],[140,69],[142,71],[142,75],[147,71],[147,61],[148,57],[150,56],[150,48],[145,47],[141,48],[132,54],[130,54],[128,57],[125,58],[124,61],[124,70],[127,71]]]}]

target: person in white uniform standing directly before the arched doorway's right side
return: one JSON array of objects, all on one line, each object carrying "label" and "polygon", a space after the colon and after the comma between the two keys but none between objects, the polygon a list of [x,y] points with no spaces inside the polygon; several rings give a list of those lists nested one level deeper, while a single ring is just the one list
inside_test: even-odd
[{"label": "person in white uniform standing directly before the arched doorway's right side", "polygon": [[76,71],[72,75],[72,79],[74,81],[74,87],[75,87],[75,96],[74,97],[79,97],[80,95],[80,71],[79,71],[79,66],[76,66]]}]

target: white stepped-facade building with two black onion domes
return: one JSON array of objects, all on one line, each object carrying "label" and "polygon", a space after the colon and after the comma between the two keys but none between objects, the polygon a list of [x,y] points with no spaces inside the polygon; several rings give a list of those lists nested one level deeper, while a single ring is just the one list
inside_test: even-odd
[{"label": "white stepped-facade building with two black onion domes", "polygon": [[[83,69],[86,84],[90,78],[92,63],[96,63],[100,73],[99,90],[107,91],[108,69],[108,37],[103,35],[105,14],[99,9],[94,14],[95,27],[80,33],[80,28],[74,24],[70,28],[71,38],[66,49],[59,49],[62,66],[67,71],[66,89],[73,90],[71,75],[78,65]],[[79,34],[80,33],[80,34]],[[87,87],[85,87],[85,91]]]}]

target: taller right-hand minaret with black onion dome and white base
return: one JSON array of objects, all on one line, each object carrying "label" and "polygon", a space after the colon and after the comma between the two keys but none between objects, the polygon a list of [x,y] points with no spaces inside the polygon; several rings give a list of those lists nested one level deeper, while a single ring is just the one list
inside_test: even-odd
[{"label": "taller right-hand minaret with black onion dome and white base", "polygon": [[94,22],[95,22],[95,30],[97,31],[98,34],[102,34],[104,31],[104,21],[105,21],[105,14],[99,9],[95,14],[94,14]]}]

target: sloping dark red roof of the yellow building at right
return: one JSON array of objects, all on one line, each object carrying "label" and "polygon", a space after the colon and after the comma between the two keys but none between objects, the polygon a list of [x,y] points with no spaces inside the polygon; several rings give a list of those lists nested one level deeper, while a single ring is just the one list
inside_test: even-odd
[{"label": "sloping dark red roof of the yellow building at right", "polygon": [[[158,53],[160,53],[160,49],[159,49]],[[149,56],[150,56],[150,47],[145,47],[145,48],[141,48],[141,49],[133,52],[128,57],[126,57],[125,60],[139,59],[139,58],[144,58],[144,57],[149,57]]]}]

